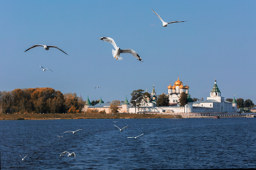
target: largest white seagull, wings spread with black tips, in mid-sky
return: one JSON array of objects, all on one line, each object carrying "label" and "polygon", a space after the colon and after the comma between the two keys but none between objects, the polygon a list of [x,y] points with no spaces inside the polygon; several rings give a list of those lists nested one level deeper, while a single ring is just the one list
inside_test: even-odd
[{"label": "largest white seagull, wings spread with black tips, in mid-sky", "polygon": [[[132,50],[132,49],[124,49],[124,50],[121,50],[119,47],[116,46],[116,43],[114,42],[113,39],[111,39],[110,37],[101,37],[99,38],[101,39],[102,41],[104,42],[110,42],[116,50],[113,50],[112,49],[112,55],[113,55],[113,58],[115,58],[116,60],[122,60],[123,58],[120,57],[120,53],[131,53],[133,56],[135,56],[135,58],[138,60],[138,61],[142,61],[142,59],[140,58],[140,56],[135,52],[135,50]],[[142,61],[143,62],[143,61]]]}]

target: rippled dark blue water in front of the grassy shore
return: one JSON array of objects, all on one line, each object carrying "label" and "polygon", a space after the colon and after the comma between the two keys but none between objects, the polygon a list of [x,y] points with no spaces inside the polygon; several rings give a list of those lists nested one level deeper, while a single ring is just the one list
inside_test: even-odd
[{"label": "rippled dark blue water in front of the grassy shore", "polygon": [[256,168],[255,118],[117,121],[1,120],[1,169]]}]

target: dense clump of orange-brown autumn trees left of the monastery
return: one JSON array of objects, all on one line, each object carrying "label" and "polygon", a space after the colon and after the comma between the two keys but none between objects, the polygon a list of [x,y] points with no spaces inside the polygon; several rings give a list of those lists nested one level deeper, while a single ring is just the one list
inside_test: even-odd
[{"label": "dense clump of orange-brown autumn trees left of the monastery", "polygon": [[76,93],[61,93],[53,88],[17,88],[0,92],[2,113],[78,113],[85,105]]}]

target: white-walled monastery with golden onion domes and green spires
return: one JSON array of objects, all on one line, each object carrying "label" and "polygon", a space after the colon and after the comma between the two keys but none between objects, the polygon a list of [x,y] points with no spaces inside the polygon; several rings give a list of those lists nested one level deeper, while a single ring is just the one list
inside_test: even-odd
[{"label": "white-walled monastery with golden onion domes and green spires", "polygon": [[[154,89],[151,92],[151,98],[143,98],[140,103],[140,107],[132,107],[132,104],[129,104],[127,98],[125,101],[118,106],[118,112],[120,113],[223,113],[223,112],[238,112],[236,99],[233,98],[233,102],[225,101],[225,98],[221,96],[221,92],[217,86],[217,80],[214,81],[214,87],[210,92],[210,96],[207,97],[206,101],[195,101],[192,102],[192,99],[189,95],[189,86],[183,85],[181,80],[178,80],[174,85],[167,86],[168,93],[165,94],[169,98],[170,106],[169,107],[157,107],[157,98],[159,97]],[[181,96],[181,93],[187,93],[188,103],[184,107],[180,107],[178,104],[178,99]],[[106,113],[111,113],[110,103],[103,103],[100,98],[99,104],[91,106],[89,97],[87,98],[86,105],[83,108],[83,111],[87,109],[95,109],[98,112],[105,110]]]}]

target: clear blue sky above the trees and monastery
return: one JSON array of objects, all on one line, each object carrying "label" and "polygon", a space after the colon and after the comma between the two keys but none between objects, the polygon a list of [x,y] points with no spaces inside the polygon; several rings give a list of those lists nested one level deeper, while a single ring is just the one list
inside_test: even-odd
[{"label": "clear blue sky above the trees and monastery", "polygon": [[[188,20],[162,27],[165,22]],[[12,1],[0,5],[0,90],[54,88],[91,101],[131,98],[132,90],[167,93],[178,79],[192,98],[210,95],[256,104],[256,1]],[[108,36],[121,54],[99,40]],[[24,51],[32,45],[56,45]],[[52,69],[42,72],[39,66]],[[102,88],[94,89],[95,86]]]}]

